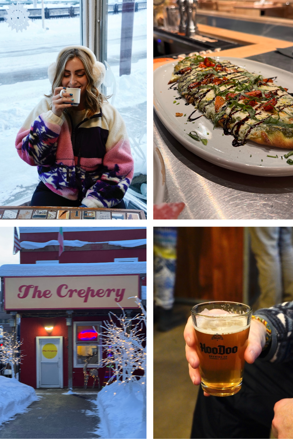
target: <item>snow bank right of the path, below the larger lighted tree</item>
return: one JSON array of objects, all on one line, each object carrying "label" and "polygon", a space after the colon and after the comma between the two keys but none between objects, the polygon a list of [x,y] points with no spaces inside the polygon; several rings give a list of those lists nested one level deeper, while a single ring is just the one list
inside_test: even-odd
[{"label": "snow bank right of the path, below the larger lighted tree", "polygon": [[139,381],[115,381],[105,386],[96,401],[101,422],[95,433],[104,439],[146,438],[146,424],[141,421],[142,399]]}]

